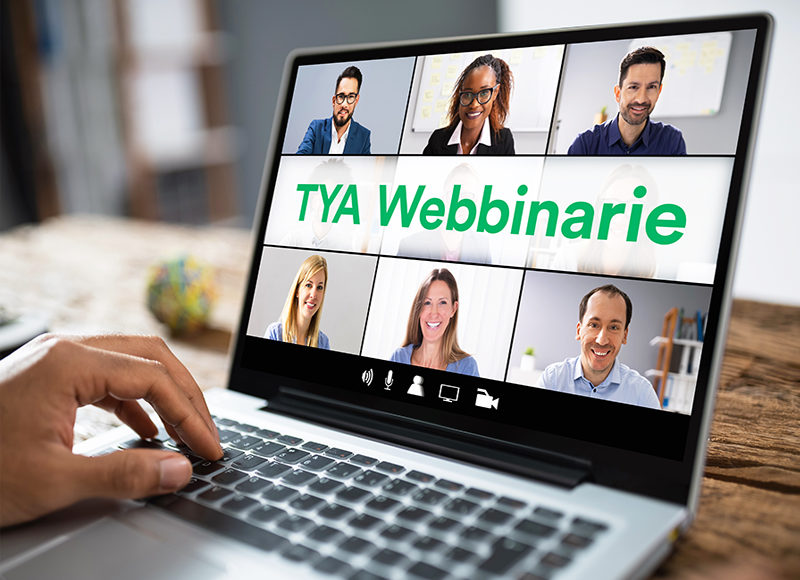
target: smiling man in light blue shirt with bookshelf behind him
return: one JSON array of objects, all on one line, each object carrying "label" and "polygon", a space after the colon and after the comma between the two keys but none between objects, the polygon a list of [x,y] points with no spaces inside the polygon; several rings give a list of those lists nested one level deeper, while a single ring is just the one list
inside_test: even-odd
[{"label": "smiling man in light blue shirt with bookshelf behind him", "polygon": [[612,284],[591,290],[578,308],[576,340],[581,353],[549,365],[537,387],[660,409],[653,385],[617,360],[628,341],[633,304]]}]

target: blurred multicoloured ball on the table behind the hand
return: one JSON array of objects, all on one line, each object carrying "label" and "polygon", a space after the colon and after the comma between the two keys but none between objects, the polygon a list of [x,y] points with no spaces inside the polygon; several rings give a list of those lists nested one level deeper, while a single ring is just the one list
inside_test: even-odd
[{"label": "blurred multicoloured ball on the table behind the hand", "polygon": [[216,297],[213,269],[193,256],[165,260],[150,268],[147,307],[175,334],[203,328]]}]

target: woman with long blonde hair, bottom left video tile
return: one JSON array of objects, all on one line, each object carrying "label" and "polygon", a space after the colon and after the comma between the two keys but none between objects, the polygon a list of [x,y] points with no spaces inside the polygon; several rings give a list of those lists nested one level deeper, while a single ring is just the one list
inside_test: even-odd
[{"label": "woman with long blonde hair, bottom left video tile", "polygon": [[322,256],[309,256],[294,277],[280,321],[267,327],[266,338],[330,350],[327,335],[319,329],[327,287],[328,263]]}]

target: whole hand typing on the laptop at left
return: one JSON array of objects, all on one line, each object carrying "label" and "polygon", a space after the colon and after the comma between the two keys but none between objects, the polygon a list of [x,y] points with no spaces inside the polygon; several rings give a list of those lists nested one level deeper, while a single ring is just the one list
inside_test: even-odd
[{"label": "whole hand typing on the laptop at left", "polygon": [[139,498],[186,485],[192,467],[179,453],[72,453],[75,413],[88,404],[154,437],[158,429],[136,399],[155,408],[177,442],[206,459],[222,456],[200,388],[160,338],[44,335],[0,361],[0,526],[89,497]]}]

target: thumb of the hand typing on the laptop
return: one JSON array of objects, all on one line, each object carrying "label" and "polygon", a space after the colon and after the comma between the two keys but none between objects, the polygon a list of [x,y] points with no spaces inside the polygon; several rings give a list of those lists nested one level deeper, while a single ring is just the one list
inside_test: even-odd
[{"label": "thumb of the hand typing on the laptop", "polygon": [[89,497],[142,498],[177,491],[192,465],[180,453],[127,449],[97,457],[74,456],[75,501]]}]

